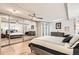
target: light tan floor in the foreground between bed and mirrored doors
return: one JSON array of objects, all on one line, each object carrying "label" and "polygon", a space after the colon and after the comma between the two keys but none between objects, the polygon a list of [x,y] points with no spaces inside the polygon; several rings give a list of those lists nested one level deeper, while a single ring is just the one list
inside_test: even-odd
[{"label": "light tan floor in the foreground between bed and mirrored doors", "polygon": [[1,55],[35,55],[31,53],[28,44],[30,41],[22,42],[1,48]]}]

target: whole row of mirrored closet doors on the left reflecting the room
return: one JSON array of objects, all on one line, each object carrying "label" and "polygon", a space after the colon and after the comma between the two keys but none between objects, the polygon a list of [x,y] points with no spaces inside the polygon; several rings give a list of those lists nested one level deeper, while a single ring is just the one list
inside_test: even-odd
[{"label": "whole row of mirrored closet doors on the left reflecting the room", "polygon": [[36,37],[36,22],[0,15],[1,18],[1,46],[27,41]]}]

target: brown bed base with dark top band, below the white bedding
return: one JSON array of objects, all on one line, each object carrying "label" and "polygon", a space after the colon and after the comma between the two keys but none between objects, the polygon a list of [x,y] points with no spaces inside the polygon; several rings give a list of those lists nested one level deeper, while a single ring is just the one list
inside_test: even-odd
[{"label": "brown bed base with dark top band, below the white bedding", "polygon": [[55,50],[52,50],[47,47],[40,46],[40,45],[37,45],[34,43],[30,43],[29,47],[30,47],[31,51],[37,55],[52,55],[52,54],[53,55],[67,55],[65,53],[61,53],[59,51],[55,51]]}]

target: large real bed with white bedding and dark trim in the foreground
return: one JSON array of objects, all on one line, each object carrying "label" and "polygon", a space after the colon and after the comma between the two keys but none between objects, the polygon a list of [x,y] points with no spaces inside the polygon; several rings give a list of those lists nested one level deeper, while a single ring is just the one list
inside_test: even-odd
[{"label": "large real bed with white bedding and dark trim in the foreground", "polygon": [[79,35],[73,37],[69,43],[63,43],[64,39],[65,37],[56,36],[38,37],[31,41],[29,47],[38,55],[79,55]]}]

